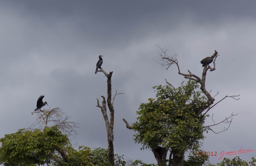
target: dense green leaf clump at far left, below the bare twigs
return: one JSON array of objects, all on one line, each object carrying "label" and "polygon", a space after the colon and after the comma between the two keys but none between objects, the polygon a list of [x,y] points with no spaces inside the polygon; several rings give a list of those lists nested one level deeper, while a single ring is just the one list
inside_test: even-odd
[{"label": "dense green leaf clump at far left, below the bare twigs", "polygon": [[43,131],[20,129],[6,134],[0,142],[0,163],[5,166],[50,164],[56,156],[56,146],[61,148],[69,144],[68,137],[62,135],[56,126],[46,127]]}]

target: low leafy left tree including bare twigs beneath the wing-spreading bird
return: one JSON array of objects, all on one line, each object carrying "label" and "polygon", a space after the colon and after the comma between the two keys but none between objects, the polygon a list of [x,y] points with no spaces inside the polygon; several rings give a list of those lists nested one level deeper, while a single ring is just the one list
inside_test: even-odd
[{"label": "low leafy left tree including bare twigs beneath the wing-spreading bird", "polygon": [[[28,129],[6,134],[0,139],[0,164],[4,166],[111,166],[108,150],[87,146],[74,149],[68,136],[76,134],[78,123],[59,108],[43,109],[36,114],[36,122]],[[49,125],[52,125],[49,127]],[[36,128],[38,127],[38,128]],[[123,156],[114,154],[115,165],[125,166]],[[130,162],[132,166],[138,163]],[[148,166],[144,164],[144,166]]]}]

